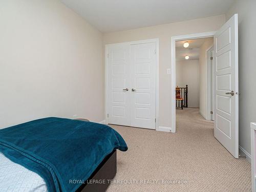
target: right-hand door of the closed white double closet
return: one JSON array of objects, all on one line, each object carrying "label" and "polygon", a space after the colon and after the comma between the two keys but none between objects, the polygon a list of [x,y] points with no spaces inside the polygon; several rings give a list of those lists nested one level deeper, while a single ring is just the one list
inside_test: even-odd
[{"label": "right-hand door of the closed white double closet", "polygon": [[156,43],[131,45],[131,126],[156,129]]}]

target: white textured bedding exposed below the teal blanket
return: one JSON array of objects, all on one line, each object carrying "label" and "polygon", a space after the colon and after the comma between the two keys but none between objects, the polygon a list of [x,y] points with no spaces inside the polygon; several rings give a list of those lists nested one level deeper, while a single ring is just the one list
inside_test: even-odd
[{"label": "white textured bedding exposed below the teal blanket", "polygon": [[0,152],[0,191],[48,191],[44,179]]}]

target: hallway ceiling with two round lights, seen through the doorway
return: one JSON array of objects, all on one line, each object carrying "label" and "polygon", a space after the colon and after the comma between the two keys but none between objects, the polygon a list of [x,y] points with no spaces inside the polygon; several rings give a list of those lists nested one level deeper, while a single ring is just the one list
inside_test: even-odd
[{"label": "hallway ceiling with two round lights, seen through the doorway", "polygon": [[[188,60],[199,60],[200,47],[208,39],[212,39],[212,43],[214,42],[213,37],[176,41],[176,60],[186,60],[186,55],[189,56]],[[189,43],[188,48],[183,47],[184,42]]]}]

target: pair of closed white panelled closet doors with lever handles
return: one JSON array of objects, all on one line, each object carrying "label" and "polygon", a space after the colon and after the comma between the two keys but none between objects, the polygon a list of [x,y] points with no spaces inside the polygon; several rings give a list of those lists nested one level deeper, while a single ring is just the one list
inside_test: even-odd
[{"label": "pair of closed white panelled closet doors with lever handles", "polygon": [[156,42],[108,46],[108,123],[155,129]]}]

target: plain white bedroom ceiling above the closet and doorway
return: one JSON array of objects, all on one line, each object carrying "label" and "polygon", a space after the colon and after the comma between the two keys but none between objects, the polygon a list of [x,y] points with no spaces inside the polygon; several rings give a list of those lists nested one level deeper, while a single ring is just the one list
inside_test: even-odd
[{"label": "plain white bedroom ceiling above the closet and doorway", "polygon": [[102,32],[225,14],[233,0],[61,0]]}]

